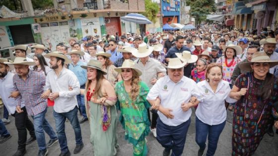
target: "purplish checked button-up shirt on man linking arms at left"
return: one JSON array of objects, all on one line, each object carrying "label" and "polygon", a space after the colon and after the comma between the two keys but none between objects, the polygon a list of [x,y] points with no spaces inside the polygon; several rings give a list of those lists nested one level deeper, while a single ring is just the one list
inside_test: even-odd
[{"label": "purplish checked button-up shirt on man linking arms at left", "polygon": [[47,100],[42,99],[44,92],[45,75],[29,69],[26,80],[15,74],[13,76],[13,85],[20,92],[20,96],[16,98],[17,105],[21,105],[21,101],[25,102],[27,113],[35,116],[47,107]]}]

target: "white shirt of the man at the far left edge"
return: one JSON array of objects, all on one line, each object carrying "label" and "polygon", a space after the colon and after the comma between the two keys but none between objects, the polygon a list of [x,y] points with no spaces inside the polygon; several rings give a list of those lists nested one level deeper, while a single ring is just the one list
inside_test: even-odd
[{"label": "white shirt of the man at the far left edge", "polygon": [[[12,81],[13,75],[13,73],[8,72],[3,79],[0,79],[0,96],[10,114],[14,114],[17,105],[17,101],[14,98],[9,98],[10,93],[15,91]],[[24,102],[21,102],[21,108],[24,106]]]}]

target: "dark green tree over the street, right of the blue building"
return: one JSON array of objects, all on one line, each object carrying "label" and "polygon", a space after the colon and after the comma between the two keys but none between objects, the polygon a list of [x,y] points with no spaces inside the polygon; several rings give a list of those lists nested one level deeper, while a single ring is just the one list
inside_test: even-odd
[{"label": "dark green tree over the street, right of the blue building", "polygon": [[195,17],[196,25],[206,20],[206,16],[216,11],[214,0],[187,0],[187,5],[191,6],[191,16]]}]

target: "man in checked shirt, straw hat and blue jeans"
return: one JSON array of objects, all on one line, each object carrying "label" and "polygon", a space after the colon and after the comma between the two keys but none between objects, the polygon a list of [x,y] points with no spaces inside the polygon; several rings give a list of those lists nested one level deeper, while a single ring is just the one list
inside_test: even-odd
[{"label": "man in checked shirt, straw hat and blue jeans", "polygon": [[[23,113],[23,107],[25,105],[28,115],[33,118],[35,136],[39,147],[38,156],[46,156],[48,153],[47,148],[55,144],[58,139],[53,128],[45,118],[47,112],[47,99],[41,97],[46,83],[45,75],[30,70],[29,65],[36,64],[34,61],[27,61],[24,57],[15,57],[13,62],[4,63],[13,65],[17,73],[12,79],[15,91],[19,91],[20,93],[20,95],[16,97],[16,111],[17,113]],[[24,101],[24,105],[21,105],[22,101]],[[44,131],[50,137],[50,141],[47,144],[45,142]],[[24,143],[22,142],[22,144]],[[24,151],[22,151],[22,153],[24,153]]]}]

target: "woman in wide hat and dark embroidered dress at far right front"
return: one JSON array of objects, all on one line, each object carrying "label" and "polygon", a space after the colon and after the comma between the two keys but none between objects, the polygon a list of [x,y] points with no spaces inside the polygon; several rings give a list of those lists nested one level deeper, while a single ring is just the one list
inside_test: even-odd
[{"label": "woman in wide hat and dark embroidered dress at far right front", "polygon": [[[278,101],[278,79],[269,73],[277,64],[278,60],[271,60],[265,52],[256,52],[250,62],[239,66],[247,73],[238,76],[230,92],[230,97],[238,100],[232,126],[232,156],[252,156],[273,117],[278,117],[273,108]],[[275,126],[278,128],[278,121]]]}]

